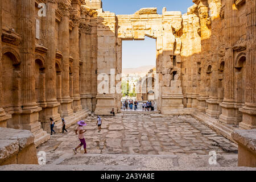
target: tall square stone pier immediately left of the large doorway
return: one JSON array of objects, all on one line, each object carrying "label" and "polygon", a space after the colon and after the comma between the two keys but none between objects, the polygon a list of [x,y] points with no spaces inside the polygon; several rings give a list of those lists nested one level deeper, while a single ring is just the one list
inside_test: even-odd
[{"label": "tall square stone pier immediately left of the large doorway", "polygon": [[[95,114],[110,115],[114,108],[117,113],[115,97],[115,71],[116,71],[116,38],[115,38],[115,14],[100,13],[102,18],[98,20],[98,49],[97,49],[97,105]],[[114,71],[114,72],[113,72]],[[113,78],[114,76],[114,78]],[[104,78],[104,81],[102,81]],[[114,80],[113,80],[114,79]],[[106,82],[105,82],[106,81]],[[114,83],[114,85],[111,84]],[[103,86],[105,85],[105,86]],[[103,88],[103,89],[102,89]]]}]

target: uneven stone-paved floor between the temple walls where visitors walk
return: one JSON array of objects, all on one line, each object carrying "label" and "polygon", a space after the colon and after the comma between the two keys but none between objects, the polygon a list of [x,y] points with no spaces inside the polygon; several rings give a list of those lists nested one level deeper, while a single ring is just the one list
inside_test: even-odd
[{"label": "uneven stone-paved floor between the temple walls where visitors walk", "polygon": [[[213,150],[217,154],[237,152],[234,143],[189,115],[164,117],[160,114],[121,113],[115,117],[102,117],[101,133],[97,130],[96,116],[89,116],[85,121],[89,154],[208,155]],[[72,148],[79,144],[75,128],[76,125],[70,127],[68,134],[53,134],[48,142],[38,147],[38,151],[46,151],[47,163],[61,155],[72,154]]]}]

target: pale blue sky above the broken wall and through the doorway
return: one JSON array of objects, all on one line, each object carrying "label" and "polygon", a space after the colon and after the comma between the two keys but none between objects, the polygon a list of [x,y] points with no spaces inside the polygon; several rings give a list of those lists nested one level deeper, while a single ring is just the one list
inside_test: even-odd
[{"label": "pale blue sky above the broken wall and through the doorway", "polygon": [[[181,11],[186,13],[193,5],[192,0],[102,0],[104,11],[119,14],[134,14],[143,7],[157,7],[162,13],[163,7],[167,11]],[[147,38],[142,41],[123,41],[122,67],[137,68],[144,65],[155,65],[155,39]]]}]

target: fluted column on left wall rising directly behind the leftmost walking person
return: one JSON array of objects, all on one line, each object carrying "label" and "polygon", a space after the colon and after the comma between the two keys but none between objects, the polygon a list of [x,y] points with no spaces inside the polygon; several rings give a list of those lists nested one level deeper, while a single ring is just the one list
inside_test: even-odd
[{"label": "fluted column on left wall rising directly behind the leftmost walking person", "polygon": [[56,43],[55,43],[55,0],[47,1],[46,11],[46,38],[47,38],[47,59],[46,59],[46,102],[45,109],[46,123],[49,118],[60,121],[58,106],[60,105],[56,99]]}]

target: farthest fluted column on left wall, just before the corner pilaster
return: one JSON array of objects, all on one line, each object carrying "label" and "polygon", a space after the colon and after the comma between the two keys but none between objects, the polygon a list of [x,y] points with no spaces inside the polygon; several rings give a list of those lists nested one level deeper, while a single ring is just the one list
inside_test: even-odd
[{"label": "farthest fluted column on left wall, just before the corner pilaster", "polygon": [[80,98],[80,86],[79,86],[79,23],[80,23],[80,7],[81,2],[79,0],[72,1],[73,11],[71,13],[71,19],[74,23],[74,28],[71,32],[71,45],[70,51],[74,59],[73,61],[73,110],[75,112],[82,110],[81,98]]}]

